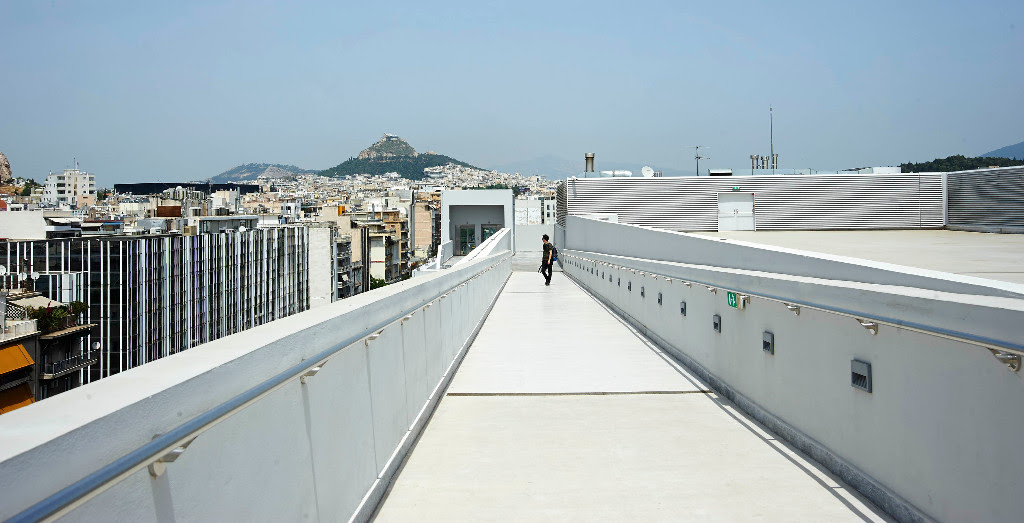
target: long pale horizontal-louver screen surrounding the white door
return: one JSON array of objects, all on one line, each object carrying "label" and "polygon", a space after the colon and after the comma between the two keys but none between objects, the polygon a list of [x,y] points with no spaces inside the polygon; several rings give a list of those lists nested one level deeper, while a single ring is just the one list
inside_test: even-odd
[{"label": "long pale horizontal-louver screen surrounding the white door", "polygon": [[568,214],[672,230],[718,230],[719,192],[754,193],[759,230],[944,225],[942,174],[577,178],[565,191]]}]

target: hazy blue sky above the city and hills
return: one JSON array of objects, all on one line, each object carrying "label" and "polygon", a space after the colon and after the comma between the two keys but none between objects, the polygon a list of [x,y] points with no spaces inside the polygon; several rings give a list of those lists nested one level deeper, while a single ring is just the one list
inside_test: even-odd
[{"label": "hazy blue sky above the city and hills", "polygon": [[1024,140],[1020,0],[297,3],[5,0],[0,151],[100,186],[323,169],[384,132],[481,167],[741,168],[769,104],[785,168]]}]

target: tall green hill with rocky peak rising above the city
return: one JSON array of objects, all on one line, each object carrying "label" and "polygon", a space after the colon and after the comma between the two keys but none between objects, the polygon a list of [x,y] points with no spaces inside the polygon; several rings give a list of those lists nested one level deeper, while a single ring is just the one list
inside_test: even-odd
[{"label": "tall green hill with rocky peak rising above the city", "polygon": [[[377,143],[362,149],[358,157],[349,158],[341,164],[321,171],[319,174],[322,176],[339,178],[354,174],[381,175],[398,173],[402,178],[419,180],[424,177],[424,169],[446,164],[479,169],[478,167],[444,155],[417,152],[406,140],[391,134],[385,134]],[[480,170],[482,171],[483,169]]]}]

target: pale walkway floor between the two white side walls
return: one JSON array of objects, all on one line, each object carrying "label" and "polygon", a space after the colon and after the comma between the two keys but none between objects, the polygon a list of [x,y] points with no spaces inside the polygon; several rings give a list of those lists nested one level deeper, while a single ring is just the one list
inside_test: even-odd
[{"label": "pale walkway floor between the two white side walls", "polygon": [[557,272],[512,273],[376,516],[886,520]]}]

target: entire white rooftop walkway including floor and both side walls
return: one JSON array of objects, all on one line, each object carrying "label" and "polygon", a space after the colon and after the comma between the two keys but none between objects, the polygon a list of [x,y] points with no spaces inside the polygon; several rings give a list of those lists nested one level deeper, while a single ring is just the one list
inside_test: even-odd
[{"label": "entire white rooftop walkway including floor and both side walls", "polygon": [[0,417],[0,519],[1019,519],[1024,286],[566,225]]}]

